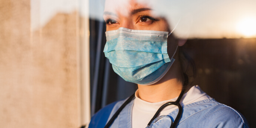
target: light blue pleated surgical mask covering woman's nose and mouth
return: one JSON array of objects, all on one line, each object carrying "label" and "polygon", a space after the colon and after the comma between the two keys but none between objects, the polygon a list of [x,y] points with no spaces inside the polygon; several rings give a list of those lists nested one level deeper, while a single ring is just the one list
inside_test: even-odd
[{"label": "light blue pleated surgical mask covering woman's nose and mouth", "polygon": [[105,57],[125,81],[151,85],[163,78],[175,60],[167,54],[169,35],[168,32],[124,27],[107,31]]}]

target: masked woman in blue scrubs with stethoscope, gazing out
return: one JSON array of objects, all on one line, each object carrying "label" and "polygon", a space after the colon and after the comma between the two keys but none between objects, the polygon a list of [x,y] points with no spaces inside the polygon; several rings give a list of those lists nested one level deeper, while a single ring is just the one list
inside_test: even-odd
[{"label": "masked woman in blue scrubs with stethoscope, gazing out", "polygon": [[101,109],[89,128],[248,128],[239,112],[187,85],[178,54],[186,41],[175,39],[174,29],[149,5],[106,0],[104,19],[105,56],[138,90]]}]

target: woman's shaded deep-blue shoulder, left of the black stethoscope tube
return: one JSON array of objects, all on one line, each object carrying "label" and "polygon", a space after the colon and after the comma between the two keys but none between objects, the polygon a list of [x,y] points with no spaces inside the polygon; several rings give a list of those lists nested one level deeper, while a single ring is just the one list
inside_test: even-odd
[{"label": "woman's shaded deep-blue shoulder, left of the black stethoscope tube", "polygon": [[117,102],[113,102],[94,114],[91,118],[89,128],[104,128],[106,122],[108,121],[108,117],[116,103]]}]

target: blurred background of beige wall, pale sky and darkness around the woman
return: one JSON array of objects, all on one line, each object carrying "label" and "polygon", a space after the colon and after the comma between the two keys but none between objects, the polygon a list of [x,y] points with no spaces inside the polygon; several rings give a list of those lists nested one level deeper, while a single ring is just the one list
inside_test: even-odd
[{"label": "blurred background of beige wall, pale sky and darkness around the woman", "polygon": [[[256,1],[159,0],[186,38],[193,85],[256,127]],[[0,0],[0,128],[79,128],[137,89],[103,49],[104,0]],[[168,13],[164,13],[168,12]]]}]

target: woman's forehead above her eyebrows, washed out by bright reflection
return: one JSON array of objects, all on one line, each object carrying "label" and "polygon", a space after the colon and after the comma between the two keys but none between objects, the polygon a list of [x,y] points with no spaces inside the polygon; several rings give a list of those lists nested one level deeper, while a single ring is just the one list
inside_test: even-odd
[{"label": "woman's forehead above her eyebrows, washed out by bright reflection", "polygon": [[106,0],[104,11],[128,15],[132,10],[140,8],[151,9],[151,6],[145,3],[144,0]]}]

